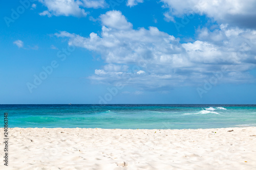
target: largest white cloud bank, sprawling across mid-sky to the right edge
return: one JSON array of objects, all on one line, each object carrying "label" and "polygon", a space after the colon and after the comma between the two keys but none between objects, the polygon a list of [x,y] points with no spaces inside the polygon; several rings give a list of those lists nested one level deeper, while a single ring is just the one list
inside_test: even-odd
[{"label": "largest white cloud bank, sprawling across mid-sky to the right edge", "polygon": [[89,77],[92,81],[165,91],[174,86],[201,84],[223,66],[223,82],[251,80],[248,70],[256,64],[256,31],[221,25],[218,31],[198,30],[198,40],[181,43],[156,27],[133,29],[120,11],[106,12],[100,19],[99,35],[55,34],[68,37],[69,45],[101,55],[107,64],[95,70]]}]

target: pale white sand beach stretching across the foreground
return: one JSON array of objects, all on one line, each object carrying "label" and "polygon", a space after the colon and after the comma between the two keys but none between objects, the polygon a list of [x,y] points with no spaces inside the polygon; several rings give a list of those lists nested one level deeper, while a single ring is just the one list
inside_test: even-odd
[{"label": "pale white sand beach stretching across the foreground", "polygon": [[[256,127],[12,128],[9,134],[9,166],[0,169],[256,169]],[[0,148],[3,160],[3,142]]]}]

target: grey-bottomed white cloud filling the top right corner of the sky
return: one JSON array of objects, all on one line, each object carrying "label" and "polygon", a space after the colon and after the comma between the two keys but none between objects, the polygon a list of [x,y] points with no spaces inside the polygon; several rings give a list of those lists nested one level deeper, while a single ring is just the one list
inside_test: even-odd
[{"label": "grey-bottomed white cloud filling the top right corner of the sky", "polygon": [[[207,15],[221,23],[241,28],[256,28],[256,1],[254,0],[161,0],[171,16],[189,13]],[[166,17],[166,16],[165,16]]]}]

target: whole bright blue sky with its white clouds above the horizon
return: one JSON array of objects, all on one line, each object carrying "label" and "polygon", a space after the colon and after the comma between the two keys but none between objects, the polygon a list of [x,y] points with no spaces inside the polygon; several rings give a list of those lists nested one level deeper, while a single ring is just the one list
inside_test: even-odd
[{"label": "whole bright blue sky with its white clouds above the horizon", "polygon": [[256,1],[0,6],[0,104],[256,104]]}]

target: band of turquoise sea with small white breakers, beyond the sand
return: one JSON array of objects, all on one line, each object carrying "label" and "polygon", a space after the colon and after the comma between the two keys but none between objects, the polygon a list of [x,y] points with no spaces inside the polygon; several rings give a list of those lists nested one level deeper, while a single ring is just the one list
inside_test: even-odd
[{"label": "band of turquoise sea with small white breakers, beyond the sand", "polygon": [[[256,126],[256,105],[0,105],[10,128],[205,129]],[[2,124],[3,125],[3,124]]]}]

